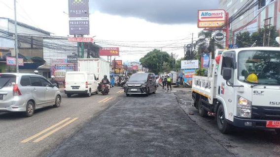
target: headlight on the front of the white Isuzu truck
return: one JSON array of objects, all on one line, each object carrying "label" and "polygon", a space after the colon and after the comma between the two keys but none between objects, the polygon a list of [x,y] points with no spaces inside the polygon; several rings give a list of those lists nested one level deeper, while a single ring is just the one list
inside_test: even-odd
[{"label": "headlight on the front of the white Isuzu truck", "polygon": [[252,102],[247,99],[238,96],[237,103],[237,116],[244,118],[251,118],[252,116]]}]

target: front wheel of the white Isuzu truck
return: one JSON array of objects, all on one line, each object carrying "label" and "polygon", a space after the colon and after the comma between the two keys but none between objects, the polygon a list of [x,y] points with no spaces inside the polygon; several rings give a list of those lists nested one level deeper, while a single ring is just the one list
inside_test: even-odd
[{"label": "front wheel of the white Isuzu truck", "polygon": [[219,105],[216,119],[217,119],[218,129],[222,133],[229,133],[231,131],[232,126],[226,121],[223,105]]}]

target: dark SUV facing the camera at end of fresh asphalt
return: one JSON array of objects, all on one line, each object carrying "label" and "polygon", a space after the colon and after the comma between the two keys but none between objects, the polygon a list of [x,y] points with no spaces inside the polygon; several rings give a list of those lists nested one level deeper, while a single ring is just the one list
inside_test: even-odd
[{"label": "dark SUV facing the camera at end of fresh asphalt", "polygon": [[148,96],[150,93],[155,94],[156,90],[156,77],[154,73],[133,74],[124,85],[126,96],[130,96],[130,94],[145,94]]}]

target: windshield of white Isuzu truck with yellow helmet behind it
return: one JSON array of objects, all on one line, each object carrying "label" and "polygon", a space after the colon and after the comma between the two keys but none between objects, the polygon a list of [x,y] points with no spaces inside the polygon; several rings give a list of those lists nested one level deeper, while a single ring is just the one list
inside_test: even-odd
[{"label": "windshield of white Isuzu truck with yellow helmet behind it", "polygon": [[249,83],[280,85],[280,51],[240,52],[238,78]]}]

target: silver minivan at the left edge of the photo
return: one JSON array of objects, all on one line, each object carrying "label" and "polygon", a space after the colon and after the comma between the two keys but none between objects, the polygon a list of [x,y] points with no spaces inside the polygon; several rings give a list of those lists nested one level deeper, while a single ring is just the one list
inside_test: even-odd
[{"label": "silver minivan at the left edge of the photo", "polygon": [[61,93],[46,78],[35,74],[0,73],[0,111],[24,112],[30,117],[35,109],[59,107]]}]

